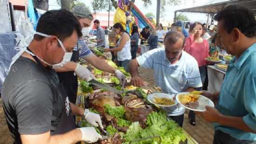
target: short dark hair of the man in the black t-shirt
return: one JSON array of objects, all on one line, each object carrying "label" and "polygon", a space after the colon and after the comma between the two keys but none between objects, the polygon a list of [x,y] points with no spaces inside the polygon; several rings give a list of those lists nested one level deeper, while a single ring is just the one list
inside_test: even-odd
[{"label": "short dark hair of the man in the black t-shirt", "polygon": [[[82,36],[79,21],[72,13],[65,9],[47,11],[41,15],[36,26],[36,31],[57,36],[61,41],[70,37],[74,31],[76,31],[78,37]],[[37,41],[44,38],[38,34],[34,35],[34,39]]]}]

